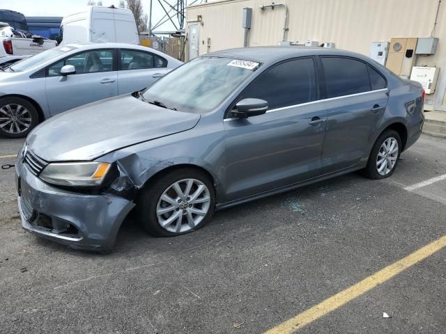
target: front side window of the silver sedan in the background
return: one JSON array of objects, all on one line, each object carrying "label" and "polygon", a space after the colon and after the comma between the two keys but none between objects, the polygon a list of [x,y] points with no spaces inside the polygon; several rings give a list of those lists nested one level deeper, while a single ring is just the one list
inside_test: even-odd
[{"label": "front side window of the silver sedan in the background", "polygon": [[48,77],[61,75],[61,68],[73,65],[75,74],[108,72],[113,70],[113,50],[94,50],[70,56],[48,67]]}]

